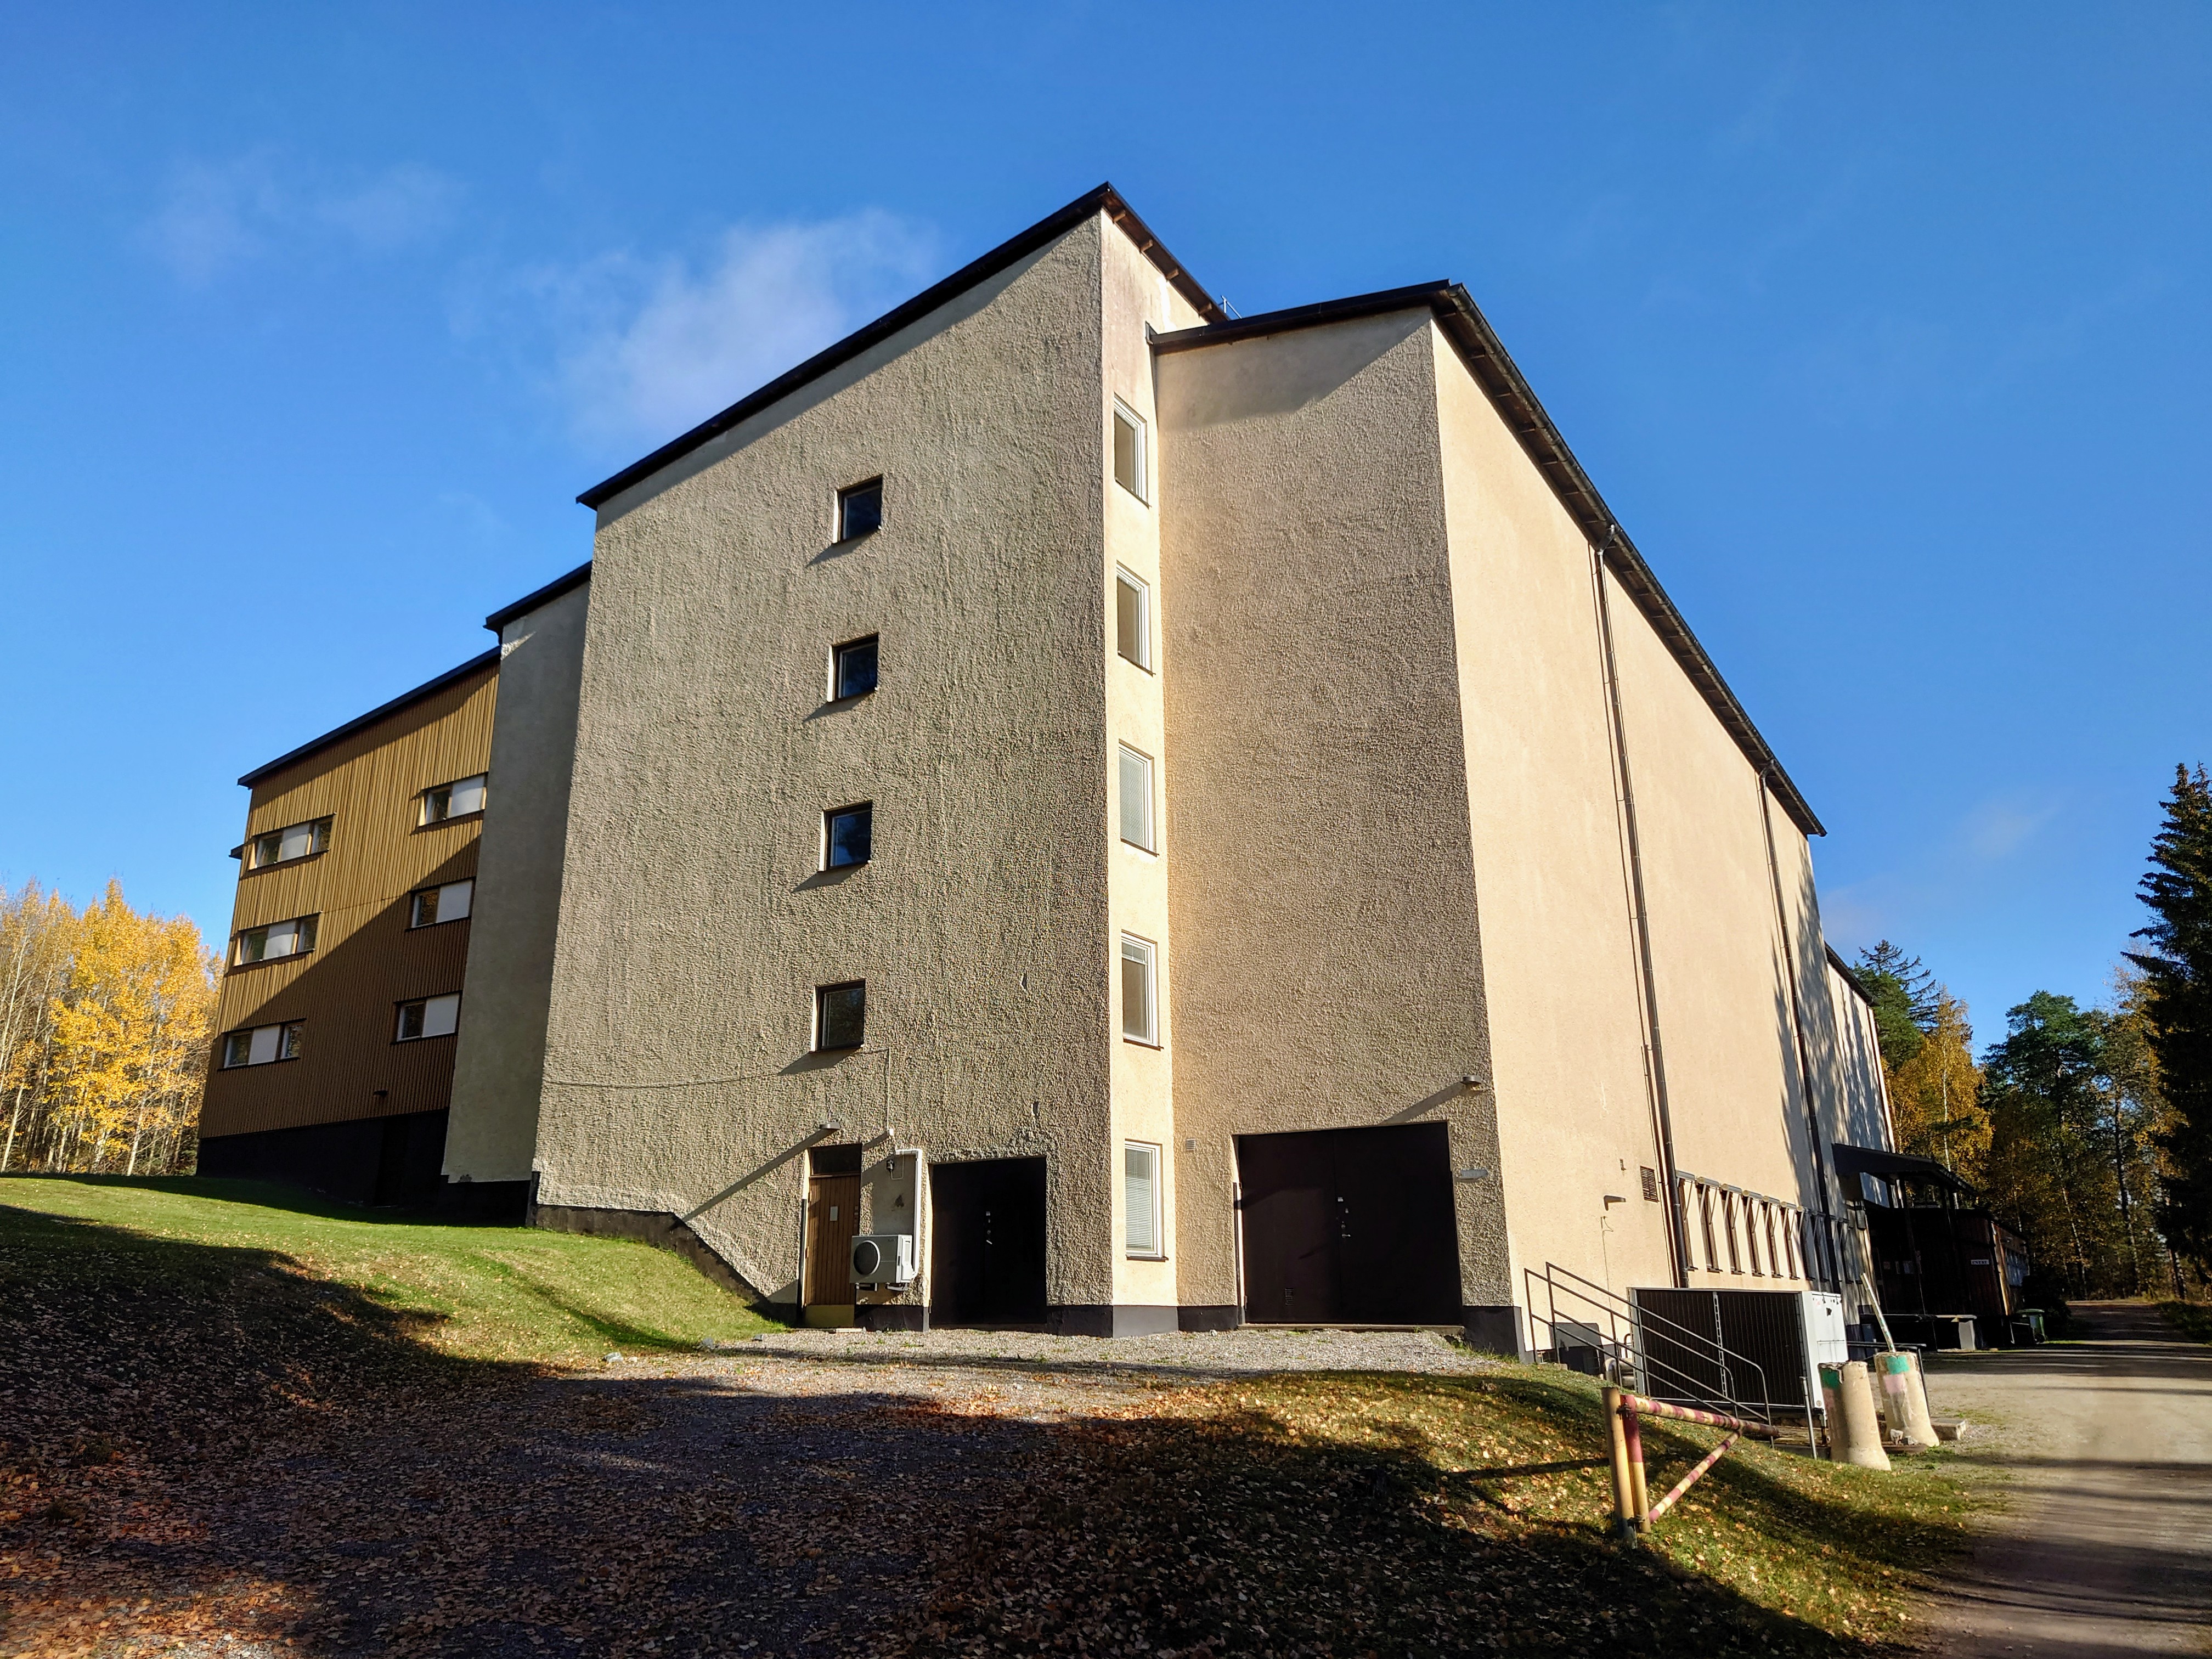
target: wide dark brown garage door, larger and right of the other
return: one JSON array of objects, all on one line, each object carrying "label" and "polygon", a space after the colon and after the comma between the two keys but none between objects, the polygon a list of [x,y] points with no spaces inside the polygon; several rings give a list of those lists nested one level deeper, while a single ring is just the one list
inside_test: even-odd
[{"label": "wide dark brown garage door, larger and right of the other", "polygon": [[1442,1124],[1239,1135],[1245,1318],[1458,1325]]}]

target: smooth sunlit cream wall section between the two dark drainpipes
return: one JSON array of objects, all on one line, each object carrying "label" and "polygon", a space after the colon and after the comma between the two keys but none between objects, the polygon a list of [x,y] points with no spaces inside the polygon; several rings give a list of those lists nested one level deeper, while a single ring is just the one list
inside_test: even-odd
[{"label": "smooth sunlit cream wall section between the two dark drainpipes", "polygon": [[1690,1175],[1805,1201],[1809,1130],[1761,825],[1765,787],[1644,615],[1606,582],[1674,1157]]}]

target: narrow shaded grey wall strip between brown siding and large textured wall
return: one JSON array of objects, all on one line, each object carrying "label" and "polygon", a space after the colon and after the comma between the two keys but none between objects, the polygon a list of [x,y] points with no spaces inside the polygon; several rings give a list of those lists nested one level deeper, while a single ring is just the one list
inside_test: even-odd
[{"label": "narrow shaded grey wall strip between brown siding and large textured wall", "polygon": [[500,712],[453,1053],[449,1181],[526,1181],[538,1146],[562,836],[591,582],[500,630]]}]

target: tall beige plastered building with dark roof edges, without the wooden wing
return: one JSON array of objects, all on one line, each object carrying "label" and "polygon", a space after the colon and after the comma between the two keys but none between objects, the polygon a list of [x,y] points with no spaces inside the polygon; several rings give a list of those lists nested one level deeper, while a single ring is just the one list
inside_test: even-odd
[{"label": "tall beige plastered building with dark roof edges, without the wooden wing", "polygon": [[1820,823],[1458,285],[1232,319],[1099,188],[582,500],[449,1194],[878,1329],[1856,1272]]}]

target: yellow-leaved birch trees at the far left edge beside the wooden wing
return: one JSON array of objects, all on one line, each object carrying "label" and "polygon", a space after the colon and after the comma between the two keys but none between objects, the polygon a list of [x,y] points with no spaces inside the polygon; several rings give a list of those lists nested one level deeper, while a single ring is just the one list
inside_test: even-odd
[{"label": "yellow-leaved birch trees at the far left edge beside the wooden wing", "polygon": [[117,883],[82,911],[27,883],[0,894],[0,1170],[188,1170],[215,1020],[199,929]]}]

